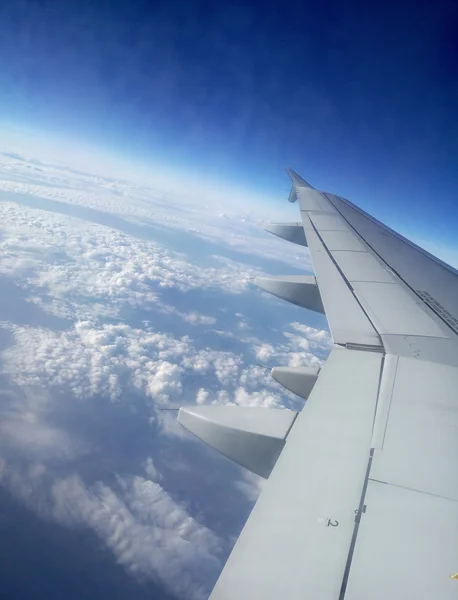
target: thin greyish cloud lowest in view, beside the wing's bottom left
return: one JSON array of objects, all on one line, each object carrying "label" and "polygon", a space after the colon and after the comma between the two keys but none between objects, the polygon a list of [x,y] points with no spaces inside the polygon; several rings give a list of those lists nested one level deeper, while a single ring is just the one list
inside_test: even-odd
[{"label": "thin greyish cloud lowest in view, beside the wing's bottom left", "polygon": [[159,483],[138,476],[118,483],[120,493],[101,483],[87,488],[77,475],[56,481],[52,516],[93,529],[132,573],[160,576],[178,597],[206,598],[224,543]]}]

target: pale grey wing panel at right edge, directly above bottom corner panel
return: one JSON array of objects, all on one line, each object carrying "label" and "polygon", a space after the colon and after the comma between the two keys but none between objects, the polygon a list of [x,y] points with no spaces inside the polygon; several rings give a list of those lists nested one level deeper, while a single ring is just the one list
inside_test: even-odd
[{"label": "pale grey wing panel at right edge, directly above bottom corner panel", "polygon": [[458,502],[457,457],[458,368],[399,357],[371,477]]}]

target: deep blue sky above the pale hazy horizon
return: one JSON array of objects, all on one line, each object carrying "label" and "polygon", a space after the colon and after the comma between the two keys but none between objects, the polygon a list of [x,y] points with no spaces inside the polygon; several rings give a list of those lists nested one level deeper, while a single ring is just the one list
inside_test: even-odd
[{"label": "deep blue sky above the pale hazy horizon", "polygon": [[291,165],[454,239],[454,0],[23,1],[0,9],[0,52],[6,120],[270,195]]}]

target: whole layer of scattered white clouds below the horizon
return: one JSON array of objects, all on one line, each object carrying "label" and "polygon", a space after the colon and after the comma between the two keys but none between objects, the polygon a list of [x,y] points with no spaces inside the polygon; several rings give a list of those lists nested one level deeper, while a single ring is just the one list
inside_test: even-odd
[{"label": "whole layer of scattered white clouds below the horizon", "polygon": [[[179,597],[206,597],[238,530],[228,526],[221,537],[206,522],[210,492],[199,487],[188,505],[181,486],[180,497],[173,475],[199,474],[187,454],[200,457],[204,473],[213,459],[157,406],[300,406],[255,361],[321,365],[329,333],[299,323],[286,305],[280,328],[270,328],[267,296],[250,317],[243,307],[255,293],[252,279],[271,262],[307,269],[308,254],[261,231],[265,208],[203,209],[191,198],[171,202],[151,187],[49,164],[32,180],[29,166],[12,159],[0,180],[0,275],[27,309],[27,319],[0,323],[11,337],[1,354],[11,389],[0,405],[0,481],[39,515],[90,528],[129,572]],[[57,321],[35,322],[32,308]],[[98,414],[101,398],[113,412],[124,409],[122,425],[109,421],[119,427],[115,437],[138,412],[126,447],[146,422],[151,443],[130,462],[122,448],[117,463],[102,441],[102,416],[84,435],[74,424],[75,405],[97,401]],[[259,478],[234,467],[224,481],[223,471],[212,485],[222,498],[229,490],[241,498],[248,513]],[[226,516],[235,511],[227,502]]]}]

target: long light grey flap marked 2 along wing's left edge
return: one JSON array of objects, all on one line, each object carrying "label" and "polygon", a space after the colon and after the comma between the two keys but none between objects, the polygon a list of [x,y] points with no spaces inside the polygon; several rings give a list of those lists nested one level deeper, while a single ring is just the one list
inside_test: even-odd
[{"label": "long light grey flap marked 2 along wing's left edge", "polygon": [[335,348],[211,595],[336,600],[370,460],[382,356]]}]

